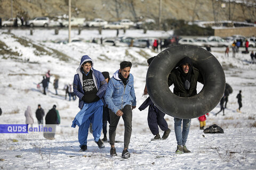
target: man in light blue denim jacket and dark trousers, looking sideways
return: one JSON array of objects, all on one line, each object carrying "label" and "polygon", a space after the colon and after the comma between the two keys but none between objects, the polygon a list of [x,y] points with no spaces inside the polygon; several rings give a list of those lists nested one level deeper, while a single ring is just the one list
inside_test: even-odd
[{"label": "man in light blue denim jacket and dark trousers, looking sideways", "polygon": [[105,100],[109,108],[109,143],[110,156],[117,156],[115,148],[116,128],[120,117],[124,120],[124,149],[122,158],[130,158],[128,151],[132,134],[132,109],[136,107],[136,97],[133,86],[133,75],[130,74],[131,62],[123,61],[108,82]]}]

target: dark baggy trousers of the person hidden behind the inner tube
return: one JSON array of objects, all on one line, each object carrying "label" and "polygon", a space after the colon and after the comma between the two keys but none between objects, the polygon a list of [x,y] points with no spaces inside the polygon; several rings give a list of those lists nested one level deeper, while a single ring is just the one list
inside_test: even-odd
[{"label": "dark baggy trousers of the person hidden behind the inner tube", "polygon": [[156,110],[148,112],[148,126],[153,135],[159,133],[158,125],[162,131],[168,129],[168,124],[165,121],[164,116],[165,114],[159,110],[158,112]]}]

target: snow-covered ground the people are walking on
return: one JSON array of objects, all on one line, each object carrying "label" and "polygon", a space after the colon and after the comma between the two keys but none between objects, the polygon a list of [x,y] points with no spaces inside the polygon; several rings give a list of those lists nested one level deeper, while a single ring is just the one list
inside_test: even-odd
[{"label": "snow-covered ground the people are walking on", "polygon": [[[191,121],[187,147],[190,154],[176,155],[177,142],[174,134],[173,117],[166,115],[171,133],[169,138],[151,141],[147,124],[147,109],[140,112],[138,107],[146,99],[142,97],[146,83],[149,57],[158,53],[151,49],[135,47],[101,46],[92,43],[55,44],[51,41],[66,39],[67,30],[55,36],[54,30],[36,30],[33,36],[28,30],[13,30],[7,34],[0,30],[0,124],[25,124],[25,110],[31,106],[35,113],[41,104],[47,113],[55,104],[61,116],[55,140],[46,140],[42,133],[20,136],[18,134],[0,134],[0,168],[4,169],[256,169],[256,114],[255,86],[256,64],[250,64],[250,54],[238,53],[235,58],[224,56],[224,51],[213,50],[226,74],[226,81],[233,88],[229,96],[225,116],[219,105],[207,117],[206,127],[217,124],[223,134],[204,134],[199,130],[197,118]],[[78,38],[91,39],[99,36],[94,30],[82,31]],[[116,35],[115,30],[103,30],[103,37]],[[162,31],[127,30],[119,36],[161,37]],[[4,43],[4,45],[3,45]],[[251,50],[249,48],[249,50]],[[88,151],[78,152],[78,128],[70,128],[73,118],[79,111],[78,100],[65,100],[63,87],[72,83],[82,55],[89,55],[94,60],[94,69],[113,74],[119,69],[121,61],[131,61],[134,75],[137,108],[133,110],[133,132],[130,149],[131,158],[122,159],[124,123],[121,119],[116,132],[117,157],[110,157],[109,143],[105,149],[98,149],[92,134],[88,136]],[[49,91],[43,95],[36,84],[43,75],[51,70]],[[53,89],[54,76],[59,76],[59,95]],[[198,89],[202,85],[198,84]],[[242,113],[237,113],[236,95],[242,90]],[[37,120],[34,114],[34,126]],[[160,135],[163,132],[159,130]]]}]

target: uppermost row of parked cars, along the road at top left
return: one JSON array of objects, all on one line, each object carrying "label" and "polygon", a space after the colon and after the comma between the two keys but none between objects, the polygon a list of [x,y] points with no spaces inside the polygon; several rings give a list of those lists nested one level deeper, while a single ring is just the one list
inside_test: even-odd
[{"label": "uppermost row of parked cars, along the road at top left", "polygon": [[[2,26],[13,26],[15,19],[17,19],[18,27],[22,24],[19,18],[10,18],[9,20],[3,21]],[[153,19],[146,19],[143,22],[134,23],[129,19],[123,19],[115,22],[107,22],[100,18],[95,18],[92,21],[86,21],[85,18],[71,18],[70,24],[73,27],[102,27],[103,29],[128,29],[134,27],[137,24],[142,23],[155,23]],[[26,25],[30,27],[54,27],[63,26],[68,27],[68,20],[58,19],[50,20],[48,17],[35,17],[34,19],[26,21]]]}]

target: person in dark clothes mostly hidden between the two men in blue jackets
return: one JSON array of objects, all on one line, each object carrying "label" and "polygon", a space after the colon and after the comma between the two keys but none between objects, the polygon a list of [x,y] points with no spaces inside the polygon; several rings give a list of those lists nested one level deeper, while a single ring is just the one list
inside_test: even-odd
[{"label": "person in dark clothes mostly hidden between the two men in blue jackets", "polygon": [[[109,77],[109,72],[101,72],[103,77],[105,78],[106,82],[108,83],[109,80],[110,80],[110,77]],[[103,99],[103,103],[104,103],[104,106],[103,106],[103,117],[102,117],[102,132],[103,132],[103,135],[104,137],[101,139],[103,142],[107,141],[107,124],[109,123],[110,124],[110,117],[109,117],[109,109],[108,109],[108,105],[106,104],[106,101],[105,101],[105,98],[104,96],[102,97]]]}]

